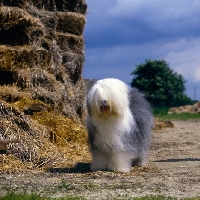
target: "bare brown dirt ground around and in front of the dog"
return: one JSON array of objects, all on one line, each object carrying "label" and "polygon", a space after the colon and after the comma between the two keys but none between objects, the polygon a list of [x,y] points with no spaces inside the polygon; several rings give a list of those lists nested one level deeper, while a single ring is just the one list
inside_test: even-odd
[{"label": "bare brown dirt ground around and in front of the dog", "polygon": [[144,195],[200,197],[200,120],[174,121],[174,128],[153,131],[148,163],[130,173],[90,172],[89,163],[48,172],[0,174],[0,196],[6,191],[48,197],[129,199]]}]

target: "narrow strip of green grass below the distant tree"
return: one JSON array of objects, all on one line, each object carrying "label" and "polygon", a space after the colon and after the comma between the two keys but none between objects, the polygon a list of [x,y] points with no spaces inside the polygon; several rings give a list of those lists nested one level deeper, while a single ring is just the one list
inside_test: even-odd
[{"label": "narrow strip of green grass below the distant tree", "polygon": [[153,108],[154,117],[158,117],[165,120],[190,120],[200,119],[200,114],[193,113],[180,113],[180,114],[168,114],[170,107],[155,107]]}]

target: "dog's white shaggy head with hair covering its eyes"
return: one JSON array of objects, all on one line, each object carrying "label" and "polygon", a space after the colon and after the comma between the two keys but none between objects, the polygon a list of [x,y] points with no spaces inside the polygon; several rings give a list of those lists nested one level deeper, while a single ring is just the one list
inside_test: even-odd
[{"label": "dog's white shaggy head with hair covering its eyes", "polygon": [[94,118],[123,117],[129,105],[128,91],[129,87],[118,79],[97,81],[87,98],[89,114]]}]

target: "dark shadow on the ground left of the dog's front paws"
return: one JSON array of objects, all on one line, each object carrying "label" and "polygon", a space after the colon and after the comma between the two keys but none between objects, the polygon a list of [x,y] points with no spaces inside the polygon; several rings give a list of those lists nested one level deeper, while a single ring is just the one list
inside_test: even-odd
[{"label": "dark shadow on the ground left of the dog's front paws", "polygon": [[88,172],[91,172],[90,163],[81,163],[81,162],[76,163],[74,167],[70,167],[70,168],[54,167],[54,168],[49,168],[47,171],[51,172],[51,173],[88,173]]}]

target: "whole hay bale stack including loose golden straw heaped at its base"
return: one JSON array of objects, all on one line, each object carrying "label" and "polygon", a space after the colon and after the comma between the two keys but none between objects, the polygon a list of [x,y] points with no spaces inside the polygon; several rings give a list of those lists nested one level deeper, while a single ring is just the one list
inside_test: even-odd
[{"label": "whole hay bale stack including loose golden straw heaped at its base", "polygon": [[88,157],[80,153],[86,10],[84,0],[0,0],[0,138],[22,140],[4,168]]}]

